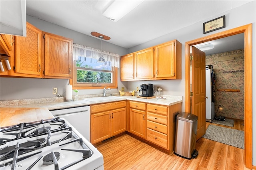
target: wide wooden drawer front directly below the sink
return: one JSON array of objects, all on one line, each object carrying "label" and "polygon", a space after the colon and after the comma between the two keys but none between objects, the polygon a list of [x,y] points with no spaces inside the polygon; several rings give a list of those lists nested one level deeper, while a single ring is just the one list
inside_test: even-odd
[{"label": "wide wooden drawer front directly below the sink", "polygon": [[102,111],[109,111],[118,108],[126,107],[126,101],[117,101],[112,103],[103,103],[99,105],[92,105],[91,106],[91,114],[98,113]]}]

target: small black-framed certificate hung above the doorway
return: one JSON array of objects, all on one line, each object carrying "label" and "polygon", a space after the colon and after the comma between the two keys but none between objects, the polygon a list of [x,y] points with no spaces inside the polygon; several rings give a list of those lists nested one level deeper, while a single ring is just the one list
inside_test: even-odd
[{"label": "small black-framed certificate hung above the doorway", "polygon": [[225,16],[221,16],[219,18],[215,18],[213,20],[204,22],[203,24],[203,30],[204,34],[208,32],[212,32],[215,30],[219,30],[221,28],[225,28]]}]

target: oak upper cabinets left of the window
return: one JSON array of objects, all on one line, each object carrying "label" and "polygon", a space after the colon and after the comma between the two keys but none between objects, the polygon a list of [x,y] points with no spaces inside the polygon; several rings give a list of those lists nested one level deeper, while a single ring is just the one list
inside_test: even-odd
[{"label": "oak upper cabinets left of the window", "polygon": [[0,36],[1,54],[9,56],[12,68],[8,74],[4,71],[0,75],[72,79],[73,40],[42,32],[28,22],[26,32],[26,37]]}]

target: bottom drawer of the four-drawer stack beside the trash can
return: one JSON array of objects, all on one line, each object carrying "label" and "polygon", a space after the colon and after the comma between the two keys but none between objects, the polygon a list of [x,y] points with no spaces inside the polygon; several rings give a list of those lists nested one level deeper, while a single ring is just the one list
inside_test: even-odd
[{"label": "bottom drawer of the four-drawer stack beside the trash can", "polygon": [[163,148],[168,149],[168,140],[167,134],[163,134],[157,132],[155,130],[151,130],[150,128],[147,129],[147,140],[161,146]]}]

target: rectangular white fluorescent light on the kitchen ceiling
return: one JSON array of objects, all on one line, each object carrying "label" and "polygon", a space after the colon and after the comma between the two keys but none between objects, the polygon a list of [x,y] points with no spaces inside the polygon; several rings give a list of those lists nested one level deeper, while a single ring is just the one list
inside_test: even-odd
[{"label": "rectangular white fluorescent light on the kitchen ceiling", "polygon": [[117,22],[143,1],[144,0],[115,0],[102,15],[113,22]]}]

